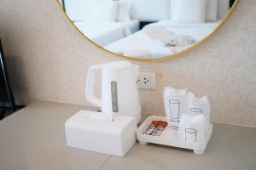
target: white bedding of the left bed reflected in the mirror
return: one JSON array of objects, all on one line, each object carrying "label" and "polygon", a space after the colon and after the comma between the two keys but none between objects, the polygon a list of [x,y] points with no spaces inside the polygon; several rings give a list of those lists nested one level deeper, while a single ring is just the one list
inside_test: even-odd
[{"label": "white bedding of the left bed reflected in the mirror", "polygon": [[90,40],[102,47],[139,30],[139,21],[137,20],[105,23],[78,21],[73,23],[86,37],[89,37]]}]

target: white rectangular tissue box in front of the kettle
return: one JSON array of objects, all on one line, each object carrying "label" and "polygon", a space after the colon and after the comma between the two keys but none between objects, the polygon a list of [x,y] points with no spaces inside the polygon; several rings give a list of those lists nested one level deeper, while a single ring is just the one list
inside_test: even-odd
[{"label": "white rectangular tissue box in front of the kettle", "polygon": [[125,156],[136,142],[137,121],[113,115],[113,121],[94,111],[79,111],[65,123],[67,146]]}]

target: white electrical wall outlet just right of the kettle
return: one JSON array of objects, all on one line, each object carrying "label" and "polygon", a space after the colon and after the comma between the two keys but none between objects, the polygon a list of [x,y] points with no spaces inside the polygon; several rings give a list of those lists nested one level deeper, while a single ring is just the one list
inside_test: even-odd
[{"label": "white electrical wall outlet just right of the kettle", "polygon": [[138,88],[156,88],[156,78],[154,72],[139,72],[137,77]]}]

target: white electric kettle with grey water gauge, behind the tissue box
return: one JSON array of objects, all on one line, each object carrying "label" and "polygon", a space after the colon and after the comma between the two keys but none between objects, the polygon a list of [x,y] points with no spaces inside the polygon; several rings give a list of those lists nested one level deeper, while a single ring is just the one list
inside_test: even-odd
[{"label": "white electric kettle with grey water gauge, behind the tissue box", "polygon": [[[102,71],[102,99],[93,93],[96,71]],[[128,61],[114,61],[92,65],[86,78],[86,99],[102,108],[102,115],[134,116],[141,120],[141,106],[137,91],[138,66]]]}]

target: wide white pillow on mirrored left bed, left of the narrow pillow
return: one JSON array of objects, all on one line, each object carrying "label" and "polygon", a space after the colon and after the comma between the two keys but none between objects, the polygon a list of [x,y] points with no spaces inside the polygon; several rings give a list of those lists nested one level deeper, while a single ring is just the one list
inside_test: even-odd
[{"label": "wide white pillow on mirrored left bed, left of the narrow pillow", "polygon": [[119,3],[112,1],[95,1],[91,5],[90,21],[114,22]]}]

